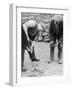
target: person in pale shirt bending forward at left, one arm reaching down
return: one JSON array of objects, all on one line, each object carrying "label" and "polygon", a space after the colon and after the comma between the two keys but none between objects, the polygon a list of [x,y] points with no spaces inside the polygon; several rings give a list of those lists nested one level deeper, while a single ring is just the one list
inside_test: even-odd
[{"label": "person in pale shirt bending forward at left, one arm reaching down", "polygon": [[39,61],[39,59],[36,59],[35,51],[34,51],[34,42],[35,38],[38,34],[37,29],[37,22],[35,20],[29,20],[25,22],[22,25],[22,67],[23,70],[23,64],[24,64],[24,53],[25,50],[28,51],[31,61]]}]

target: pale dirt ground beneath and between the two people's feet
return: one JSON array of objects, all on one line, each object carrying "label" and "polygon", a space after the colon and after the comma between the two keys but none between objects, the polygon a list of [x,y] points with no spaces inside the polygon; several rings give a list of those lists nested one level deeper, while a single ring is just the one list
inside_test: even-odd
[{"label": "pale dirt ground beneath and between the two people's feet", "polygon": [[55,48],[55,58],[52,63],[50,60],[50,45],[48,42],[36,42],[35,54],[39,62],[32,62],[27,51],[25,51],[24,70],[22,77],[63,75],[63,64],[58,64],[57,47]]}]

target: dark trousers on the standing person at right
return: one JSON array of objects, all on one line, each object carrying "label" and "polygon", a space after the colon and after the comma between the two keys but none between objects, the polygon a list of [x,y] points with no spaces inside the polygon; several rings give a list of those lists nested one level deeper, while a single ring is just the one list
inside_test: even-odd
[{"label": "dark trousers on the standing person at right", "polygon": [[56,21],[52,20],[50,23],[49,28],[49,35],[50,35],[50,58],[51,60],[54,59],[54,48],[56,42],[58,42],[58,58],[61,58],[62,55],[62,48],[63,48],[63,21]]}]

